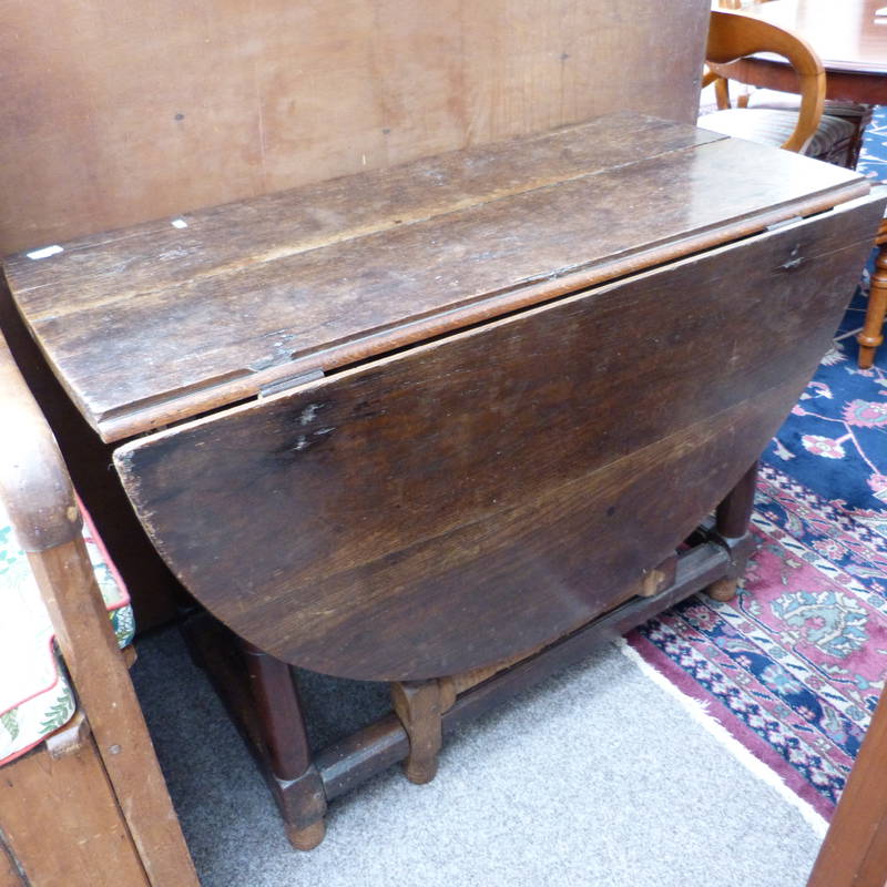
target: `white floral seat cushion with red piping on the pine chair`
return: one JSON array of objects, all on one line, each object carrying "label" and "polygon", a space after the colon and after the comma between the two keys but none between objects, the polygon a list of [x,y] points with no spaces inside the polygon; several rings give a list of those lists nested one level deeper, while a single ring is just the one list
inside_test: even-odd
[{"label": "white floral seat cushion with red piping on the pine chair", "polygon": [[[83,537],[118,642],[132,640],[130,599],[84,512]],[[77,702],[26,553],[0,503],[0,766],[62,727]]]}]

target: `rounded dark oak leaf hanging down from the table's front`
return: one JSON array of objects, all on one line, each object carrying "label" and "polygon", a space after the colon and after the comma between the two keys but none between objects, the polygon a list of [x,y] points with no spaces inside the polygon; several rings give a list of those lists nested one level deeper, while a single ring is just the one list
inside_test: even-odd
[{"label": "rounded dark oak leaf hanging down from the table's front", "polygon": [[877,227],[804,223],[124,445],[190,590],[349,677],[491,664],[624,599],[763,449]]}]

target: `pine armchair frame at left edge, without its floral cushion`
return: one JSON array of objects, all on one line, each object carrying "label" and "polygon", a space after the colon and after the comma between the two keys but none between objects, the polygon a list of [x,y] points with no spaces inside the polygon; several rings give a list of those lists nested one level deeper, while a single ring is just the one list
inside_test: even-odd
[{"label": "pine armchair frame at left edge, without its floral cushion", "polygon": [[0,336],[0,497],[79,700],[3,767],[0,883],[197,887],[81,533],[67,468]]}]

